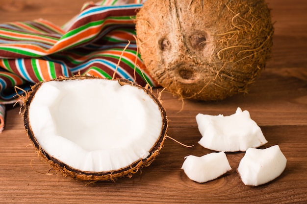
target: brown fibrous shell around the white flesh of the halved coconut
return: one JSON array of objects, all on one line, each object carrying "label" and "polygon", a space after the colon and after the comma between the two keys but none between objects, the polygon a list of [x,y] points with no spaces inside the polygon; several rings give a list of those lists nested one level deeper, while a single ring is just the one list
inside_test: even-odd
[{"label": "brown fibrous shell around the white flesh of the halved coconut", "polygon": [[[57,81],[62,81],[62,80],[75,80],[75,79],[83,79],[83,80],[90,80],[93,79],[94,77],[89,77],[89,76],[77,76],[77,77],[67,77],[67,78],[60,78],[60,79],[54,79]],[[96,78],[95,78],[96,79]],[[101,79],[101,80],[108,80],[108,79]],[[166,132],[167,132],[167,126],[168,126],[168,120],[166,116],[165,109],[163,108],[160,99],[157,98],[153,92],[152,89],[147,89],[144,87],[141,87],[139,85],[133,84],[132,82],[126,80],[126,79],[119,79],[117,80],[118,83],[123,86],[123,85],[130,85],[133,87],[136,87],[137,89],[142,89],[144,90],[147,94],[150,95],[150,97],[153,99],[153,101],[158,105],[161,116],[162,116],[162,129],[160,136],[158,137],[156,143],[150,150],[150,155],[145,158],[145,159],[139,159],[133,163],[131,163],[129,166],[122,168],[122,169],[117,169],[113,171],[108,171],[108,172],[84,172],[80,171],[78,169],[72,168],[71,166],[68,166],[67,164],[61,162],[58,159],[55,159],[51,155],[49,155],[44,149],[41,148],[41,145],[38,143],[38,141],[35,138],[35,135],[31,129],[31,124],[29,122],[29,106],[31,104],[31,101],[33,100],[36,91],[40,88],[40,86],[45,83],[45,82],[40,82],[37,83],[32,87],[32,91],[29,91],[26,95],[26,97],[23,99],[24,101],[24,113],[23,113],[23,119],[24,119],[24,124],[26,128],[26,134],[33,143],[34,147],[36,148],[39,156],[47,161],[53,169],[55,169],[58,172],[61,172],[65,177],[69,176],[73,179],[76,180],[83,180],[83,181],[115,181],[120,177],[131,177],[132,174],[135,174],[138,172],[140,169],[149,166],[153,160],[158,156],[162,146],[164,139],[166,137]],[[103,161],[102,161],[103,162]]]}]

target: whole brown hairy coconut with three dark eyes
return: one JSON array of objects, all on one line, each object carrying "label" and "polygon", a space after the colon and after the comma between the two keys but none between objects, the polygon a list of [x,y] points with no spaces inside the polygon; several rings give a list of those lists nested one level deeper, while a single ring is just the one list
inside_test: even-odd
[{"label": "whole brown hairy coconut with three dark eyes", "polygon": [[135,22],[146,68],[182,98],[248,92],[273,44],[264,0],[147,0]]}]

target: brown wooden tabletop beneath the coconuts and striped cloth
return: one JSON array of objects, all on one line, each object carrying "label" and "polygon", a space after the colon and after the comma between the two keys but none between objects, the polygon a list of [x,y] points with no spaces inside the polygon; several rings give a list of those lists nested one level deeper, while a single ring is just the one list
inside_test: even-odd
[{"label": "brown wooden tabletop beneath the coconuts and striped cloth", "polygon": [[[82,0],[0,0],[0,23],[44,18],[62,25],[76,15]],[[170,119],[167,139],[153,164],[131,179],[85,182],[49,172],[27,138],[19,108],[7,111],[0,134],[0,203],[307,203],[307,1],[268,0],[275,23],[273,57],[249,94],[220,102],[181,101],[166,92],[163,105]],[[224,114],[248,110],[269,141],[287,158],[282,175],[267,184],[245,186],[236,172],[244,153],[227,154],[232,170],[203,184],[180,169],[187,155],[209,150],[201,138],[197,113]]]}]

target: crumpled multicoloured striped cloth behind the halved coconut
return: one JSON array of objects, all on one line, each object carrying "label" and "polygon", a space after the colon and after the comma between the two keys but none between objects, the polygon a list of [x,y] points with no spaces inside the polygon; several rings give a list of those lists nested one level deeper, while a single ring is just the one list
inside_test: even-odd
[{"label": "crumpled multicoloured striped cloth behind the halved coconut", "polygon": [[0,24],[0,132],[5,104],[16,103],[17,93],[40,81],[78,73],[113,78],[115,72],[115,78],[156,87],[134,38],[135,12],[141,3],[85,3],[62,27],[43,19]]}]

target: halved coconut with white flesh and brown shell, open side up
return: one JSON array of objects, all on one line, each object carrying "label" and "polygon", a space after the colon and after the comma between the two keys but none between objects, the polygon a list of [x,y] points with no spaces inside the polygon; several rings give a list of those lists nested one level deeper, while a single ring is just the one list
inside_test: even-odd
[{"label": "halved coconut with white flesh and brown shell, open side up", "polygon": [[131,177],[152,163],[166,136],[159,99],[124,79],[41,82],[24,103],[26,132],[38,152],[75,179]]}]

